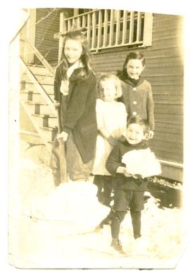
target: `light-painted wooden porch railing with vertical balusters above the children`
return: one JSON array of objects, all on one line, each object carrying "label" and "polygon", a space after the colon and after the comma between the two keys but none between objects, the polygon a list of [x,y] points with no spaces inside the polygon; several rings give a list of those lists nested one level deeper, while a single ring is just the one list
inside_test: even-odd
[{"label": "light-painted wooden porch railing with vertical balusters above the children", "polygon": [[92,51],[132,45],[147,47],[152,43],[152,23],[152,13],[96,9],[70,18],[61,13],[60,31],[86,27]]}]

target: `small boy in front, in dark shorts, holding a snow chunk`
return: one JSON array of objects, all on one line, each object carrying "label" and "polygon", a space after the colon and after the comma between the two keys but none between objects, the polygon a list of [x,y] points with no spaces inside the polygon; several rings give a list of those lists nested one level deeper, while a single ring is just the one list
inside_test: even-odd
[{"label": "small boy in front, in dark shorts, holding a snow chunk", "polygon": [[[122,245],[119,240],[120,224],[125,218],[128,209],[130,209],[132,217],[134,238],[137,239],[141,237],[141,210],[144,209],[146,179],[144,176],[139,174],[139,171],[147,170],[146,164],[148,163],[149,165],[152,163],[151,166],[148,166],[150,171],[148,176],[153,176],[151,173],[152,170],[155,174],[160,173],[160,164],[155,160],[153,155],[150,154],[148,141],[145,140],[147,133],[147,121],[139,116],[131,116],[127,122],[126,140],[113,147],[113,150],[106,161],[106,169],[108,169],[109,173],[114,176],[114,215],[112,216],[111,222],[111,235],[113,240],[111,246],[119,252],[122,252]],[[136,164],[134,158],[131,167],[134,171],[136,169],[138,175],[132,174],[127,167],[127,154],[131,154],[132,150],[134,156],[136,156],[136,159],[138,160],[138,164]],[[139,169],[138,152],[142,152],[142,150],[147,152],[148,161],[146,160],[146,154],[143,154],[143,158],[141,159],[141,166],[143,169]],[[132,158],[130,157],[130,159]],[[125,162],[125,164],[122,161]],[[136,165],[137,168],[134,167]]]}]

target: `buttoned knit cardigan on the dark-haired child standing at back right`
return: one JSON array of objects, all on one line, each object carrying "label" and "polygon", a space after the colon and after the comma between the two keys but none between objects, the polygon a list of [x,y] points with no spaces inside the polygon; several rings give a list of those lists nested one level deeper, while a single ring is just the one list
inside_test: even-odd
[{"label": "buttoned knit cardigan on the dark-haired child standing at back right", "polygon": [[127,109],[128,118],[132,115],[139,115],[148,121],[150,129],[154,130],[154,104],[151,84],[140,78],[137,85],[134,85],[128,78],[120,78],[122,85],[122,97],[118,101],[123,102]]}]

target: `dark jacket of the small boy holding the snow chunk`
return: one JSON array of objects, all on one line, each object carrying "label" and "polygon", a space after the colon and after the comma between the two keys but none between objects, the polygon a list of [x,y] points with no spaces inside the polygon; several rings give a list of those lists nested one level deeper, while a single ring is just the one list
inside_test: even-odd
[{"label": "dark jacket of the small boy holding the snow chunk", "polygon": [[127,140],[119,142],[118,145],[113,147],[112,152],[106,161],[106,169],[111,175],[113,175],[113,188],[120,190],[146,190],[147,181],[146,179],[135,179],[132,177],[125,177],[122,173],[117,173],[118,166],[125,167],[122,163],[122,156],[134,149],[146,149],[148,148],[147,140],[142,140],[137,145],[130,145]]}]

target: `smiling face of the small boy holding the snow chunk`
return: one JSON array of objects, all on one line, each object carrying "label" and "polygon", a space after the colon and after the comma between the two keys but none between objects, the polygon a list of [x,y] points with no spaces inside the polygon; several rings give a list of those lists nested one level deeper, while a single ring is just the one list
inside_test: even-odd
[{"label": "smiling face of the small boy holding the snow chunk", "polygon": [[144,127],[137,124],[137,123],[132,123],[127,126],[127,132],[126,132],[126,139],[131,145],[136,145],[141,140],[145,138],[144,134]]}]

